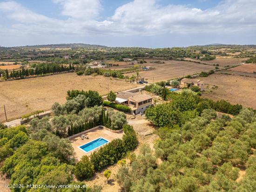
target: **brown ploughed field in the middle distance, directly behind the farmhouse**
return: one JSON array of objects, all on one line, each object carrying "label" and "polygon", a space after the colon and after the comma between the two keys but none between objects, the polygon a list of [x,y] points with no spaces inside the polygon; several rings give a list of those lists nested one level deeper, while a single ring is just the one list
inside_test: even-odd
[{"label": "brown ploughed field in the middle distance, directly behind the farmhouse", "polygon": [[[140,72],[140,76],[148,79],[148,82],[153,82],[154,78],[154,82],[156,82],[183,77],[183,75],[186,76],[189,74],[192,75],[195,73],[201,73],[202,71],[209,71],[215,68],[214,66],[203,65],[189,61],[168,60],[164,62],[164,64],[143,64],[143,66],[153,66],[155,69],[150,71],[142,71]],[[127,73],[125,75],[131,76],[132,74],[136,73]]]}]

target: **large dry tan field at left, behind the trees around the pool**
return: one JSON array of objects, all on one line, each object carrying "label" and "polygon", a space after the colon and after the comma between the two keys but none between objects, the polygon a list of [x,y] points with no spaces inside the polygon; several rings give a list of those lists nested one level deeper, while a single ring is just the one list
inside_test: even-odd
[{"label": "large dry tan field at left, behind the trees around the pool", "polygon": [[123,91],[140,85],[125,82],[122,79],[103,76],[78,76],[65,73],[47,77],[21,79],[0,82],[0,122],[5,120],[3,105],[6,106],[7,118],[15,119],[36,110],[48,110],[54,102],[63,104],[67,90],[95,90],[104,95],[109,90]]}]

